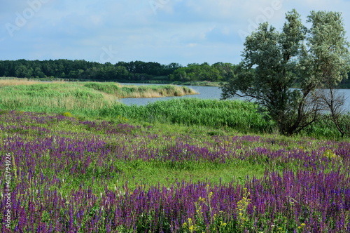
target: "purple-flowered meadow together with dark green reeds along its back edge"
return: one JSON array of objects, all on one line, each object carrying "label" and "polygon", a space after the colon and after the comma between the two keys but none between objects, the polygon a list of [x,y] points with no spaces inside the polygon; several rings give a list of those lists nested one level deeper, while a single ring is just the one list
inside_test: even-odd
[{"label": "purple-flowered meadow together with dark green reeds along its back edge", "polygon": [[12,109],[4,88],[1,232],[350,230],[347,139],[278,135],[246,102]]}]

